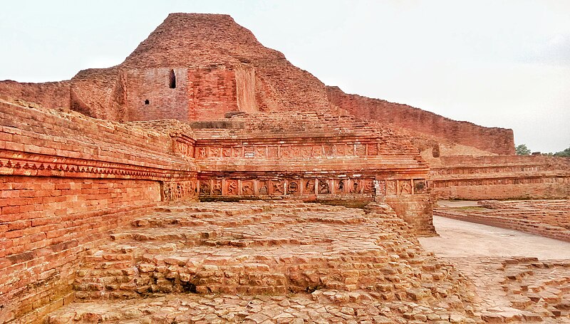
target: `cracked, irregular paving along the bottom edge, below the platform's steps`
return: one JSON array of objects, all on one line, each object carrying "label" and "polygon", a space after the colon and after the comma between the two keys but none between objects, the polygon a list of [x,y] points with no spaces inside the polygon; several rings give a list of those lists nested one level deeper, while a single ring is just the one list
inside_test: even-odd
[{"label": "cracked, irregular paving along the bottom edge, below the platform's steps", "polygon": [[48,318],[61,323],[477,323],[463,312],[378,301],[363,292],[287,296],[167,294],[128,301],[73,303]]}]

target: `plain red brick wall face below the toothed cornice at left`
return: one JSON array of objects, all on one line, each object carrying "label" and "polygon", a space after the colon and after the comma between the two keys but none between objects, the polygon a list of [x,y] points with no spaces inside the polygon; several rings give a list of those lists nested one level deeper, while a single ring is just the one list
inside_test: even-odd
[{"label": "plain red brick wall face below the toothed cornice at left", "polygon": [[159,182],[143,180],[8,176],[0,187],[0,322],[44,315],[70,291],[84,244],[125,224],[113,213],[160,201]]}]

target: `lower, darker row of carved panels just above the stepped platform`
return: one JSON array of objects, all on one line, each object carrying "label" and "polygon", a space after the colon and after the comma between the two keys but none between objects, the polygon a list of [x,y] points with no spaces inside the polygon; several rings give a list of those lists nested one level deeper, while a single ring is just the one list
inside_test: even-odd
[{"label": "lower, darker row of carved panels just above the stepped platform", "polygon": [[425,192],[425,179],[200,179],[202,196],[283,196],[300,194],[398,195]]}]

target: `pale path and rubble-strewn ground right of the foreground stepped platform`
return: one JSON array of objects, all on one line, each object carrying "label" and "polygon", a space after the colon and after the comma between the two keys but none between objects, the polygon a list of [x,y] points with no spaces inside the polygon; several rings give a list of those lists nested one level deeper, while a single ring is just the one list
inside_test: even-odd
[{"label": "pale path and rubble-strewn ground right of the foreground stepped platform", "polygon": [[434,224],[440,236],[420,241],[472,279],[482,320],[570,323],[570,243],[438,216]]}]

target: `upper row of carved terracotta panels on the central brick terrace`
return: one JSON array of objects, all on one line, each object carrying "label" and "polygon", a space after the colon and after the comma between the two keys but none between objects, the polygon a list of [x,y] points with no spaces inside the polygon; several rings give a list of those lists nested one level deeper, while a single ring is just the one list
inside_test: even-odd
[{"label": "upper row of carved terracotta panels on the central brick terrace", "polygon": [[225,146],[225,147],[196,147],[192,152],[192,146],[182,142],[176,142],[175,152],[181,155],[207,158],[319,158],[319,157],[350,157],[378,155],[378,143],[373,144],[327,144],[327,145],[250,145],[250,146]]}]

